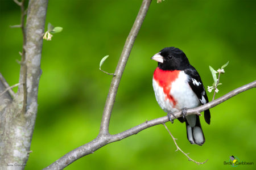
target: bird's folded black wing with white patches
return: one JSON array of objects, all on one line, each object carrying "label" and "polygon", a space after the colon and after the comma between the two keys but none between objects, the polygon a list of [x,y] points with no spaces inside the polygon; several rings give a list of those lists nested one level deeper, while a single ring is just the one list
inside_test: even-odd
[{"label": "bird's folded black wing with white patches", "polygon": [[[185,74],[189,75],[188,84],[192,88],[193,92],[195,92],[196,96],[200,100],[200,103],[201,104],[208,103],[209,100],[205,92],[203,82],[200,78],[199,73],[197,73],[196,69],[193,66],[190,66],[189,69],[185,69],[184,72]],[[204,111],[204,119],[207,122],[207,124],[210,124],[209,109]]]}]

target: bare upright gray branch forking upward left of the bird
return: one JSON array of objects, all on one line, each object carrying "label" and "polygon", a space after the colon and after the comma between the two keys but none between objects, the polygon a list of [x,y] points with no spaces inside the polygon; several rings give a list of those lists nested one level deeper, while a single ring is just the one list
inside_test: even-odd
[{"label": "bare upright gray branch forking upward left of the bird", "polygon": [[147,14],[147,10],[150,6],[151,0],[143,0],[141,8],[139,9],[137,18],[131,28],[129,36],[126,39],[125,46],[123,46],[122,54],[119,58],[117,68],[112,78],[112,82],[109,88],[109,94],[106,99],[103,116],[101,120],[100,134],[109,135],[109,121],[112,113],[115,96],[117,95],[118,86],[122,78],[123,70],[125,70],[126,62],[130,56],[131,48],[133,48],[134,41],[138,35],[139,29],[143,23],[143,20]]}]

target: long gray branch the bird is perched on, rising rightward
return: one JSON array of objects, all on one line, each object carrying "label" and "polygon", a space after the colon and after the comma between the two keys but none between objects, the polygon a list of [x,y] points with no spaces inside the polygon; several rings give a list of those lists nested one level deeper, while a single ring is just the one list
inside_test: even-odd
[{"label": "long gray branch the bird is perched on, rising rightward", "polygon": [[[231,97],[236,96],[241,92],[249,90],[254,87],[256,87],[256,80],[254,82],[246,84],[245,86],[238,87],[236,90],[233,90],[216,100],[210,101],[205,105],[201,105],[200,107],[197,107],[197,108],[188,109],[187,115],[200,114],[200,112],[213,108],[216,105],[221,104],[222,102],[230,99]],[[178,111],[172,114],[171,118],[172,120],[174,120],[175,118],[182,117],[182,116],[183,115],[181,111]],[[93,139],[93,141],[86,143],[85,145],[82,145],[76,148],[75,150],[72,150],[71,152],[68,152],[67,154],[62,156],[60,159],[56,160],[56,162],[52,163],[51,165],[49,165],[44,169],[63,169],[67,167],[67,165],[75,162],[75,160],[82,158],[82,156],[93,154],[94,151],[98,150],[99,148],[105,145],[108,145],[109,143],[120,141],[124,138],[130,137],[131,135],[137,134],[144,129],[150,128],[151,126],[164,124],[168,121],[169,121],[168,116],[164,116],[164,117],[156,118],[154,120],[146,121],[140,125],[137,125],[131,129],[128,129],[118,134],[98,135],[98,137],[96,139]]]}]

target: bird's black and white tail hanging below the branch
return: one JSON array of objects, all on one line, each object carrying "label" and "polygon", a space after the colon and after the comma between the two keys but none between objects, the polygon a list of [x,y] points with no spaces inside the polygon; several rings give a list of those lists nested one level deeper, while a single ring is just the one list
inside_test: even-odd
[{"label": "bird's black and white tail hanging below the branch", "polygon": [[187,138],[191,144],[203,145],[204,133],[201,128],[199,116],[193,114],[186,116]]}]

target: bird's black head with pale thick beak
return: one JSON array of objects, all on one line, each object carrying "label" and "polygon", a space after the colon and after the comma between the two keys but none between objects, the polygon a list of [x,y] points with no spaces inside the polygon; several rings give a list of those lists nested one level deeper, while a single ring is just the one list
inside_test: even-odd
[{"label": "bird's black head with pale thick beak", "polygon": [[162,70],[184,70],[189,66],[185,53],[174,46],[160,50],[151,59],[157,61]]}]

